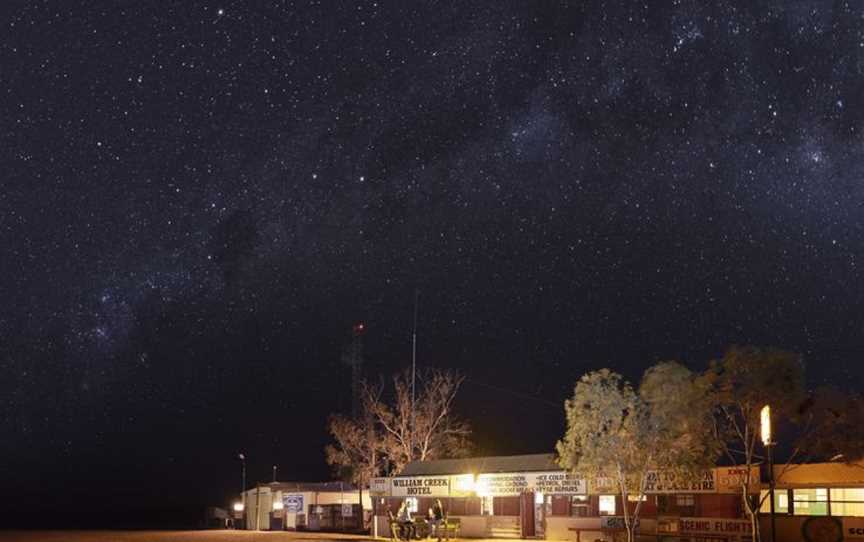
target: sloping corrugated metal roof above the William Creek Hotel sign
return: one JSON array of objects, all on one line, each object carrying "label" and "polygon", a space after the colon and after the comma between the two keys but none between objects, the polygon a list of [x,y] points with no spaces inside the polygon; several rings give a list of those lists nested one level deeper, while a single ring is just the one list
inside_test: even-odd
[{"label": "sloping corrugated metal roof above the William Creek Hotel sign", "polygon": [[438,474],[467,474],[491,472],[537,472],[561,470],[554,454],[499,455],[466,457],[463,459],[437,459],[412,461],[397,476],[434,476]]}]

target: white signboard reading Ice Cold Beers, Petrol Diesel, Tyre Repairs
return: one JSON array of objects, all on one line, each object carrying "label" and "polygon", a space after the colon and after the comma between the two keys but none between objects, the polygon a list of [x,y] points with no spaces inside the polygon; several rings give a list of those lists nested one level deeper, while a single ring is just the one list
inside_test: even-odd
[{"label": "white signboard reading Ice Cold Beers, Petrol Diesel, Tyre Repairs", "polygon": [[475,492],[481,497],[505,497],[526,492],[584,495],[586,490],[585,480],[563,471],[480,474],[475,485]]}]

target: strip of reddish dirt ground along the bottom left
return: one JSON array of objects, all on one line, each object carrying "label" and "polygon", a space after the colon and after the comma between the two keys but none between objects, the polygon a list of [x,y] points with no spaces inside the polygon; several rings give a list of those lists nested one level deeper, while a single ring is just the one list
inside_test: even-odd
[{"label": "strip of reddish dirt ground along the bottom left", "polygon": [[0,542],[361,542],[350,534],[256,531],[0,531]]}]

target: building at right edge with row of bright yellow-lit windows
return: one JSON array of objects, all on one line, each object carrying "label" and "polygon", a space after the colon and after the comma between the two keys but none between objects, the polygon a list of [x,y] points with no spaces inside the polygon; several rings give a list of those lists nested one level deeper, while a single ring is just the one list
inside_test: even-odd
[{"label": "building at right edge with row of bright yellow-lit windows", "polygon": [[[864,462],[777,465],[774,477],[776,540],[864,542]],[[767,488],[763,484],[760,510],[763,540],[771,540],[771,501]]]}]

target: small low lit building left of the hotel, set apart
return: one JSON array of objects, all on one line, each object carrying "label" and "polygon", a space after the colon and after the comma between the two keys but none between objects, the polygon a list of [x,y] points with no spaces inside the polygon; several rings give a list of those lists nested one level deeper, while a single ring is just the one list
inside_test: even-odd
[{"label": "small low lit building left of the hotel, set apart", "polygon": [[372,502],[343,482],[272,482],[247,490],[245,527],[256,531],[361,531]]}]

